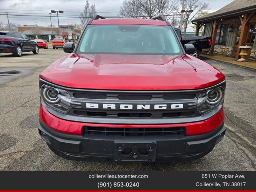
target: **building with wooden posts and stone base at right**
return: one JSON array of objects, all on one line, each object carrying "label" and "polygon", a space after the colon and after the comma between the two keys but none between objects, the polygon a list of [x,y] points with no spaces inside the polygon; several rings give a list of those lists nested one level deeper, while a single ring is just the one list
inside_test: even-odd
[{"label": "building with wooden posts and stone base at right", "polygon": [[196,24],[196,35],[205,26],[204,36],[212,36],[210,54],[239,58],[239,46],[250,46],[248,55],[256,58],[256,0],[234,0],[192,22]]}]

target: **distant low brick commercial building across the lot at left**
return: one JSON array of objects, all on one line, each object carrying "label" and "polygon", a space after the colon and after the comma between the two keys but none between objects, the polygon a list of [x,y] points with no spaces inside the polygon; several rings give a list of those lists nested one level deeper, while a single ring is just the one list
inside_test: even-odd
[{"label": "distant low brick commercial building across the lot at left", "polygon": [[23,26],[18,27],[18,32],[26,34],[26,36],[31,37],[32,39],[54,39],[54,38],[64,38],[75,39],[81,35],[81,29],[72,29],[70,25],[60,25],[60,32],[58,27],[41,27],[41,26]]}]

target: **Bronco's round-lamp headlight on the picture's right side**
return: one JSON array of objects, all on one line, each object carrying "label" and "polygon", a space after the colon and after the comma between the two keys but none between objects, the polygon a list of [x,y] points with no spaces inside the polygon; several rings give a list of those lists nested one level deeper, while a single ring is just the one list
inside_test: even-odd
[{"label": "Bronco's round-lamp headlight on the picture's right side", "polygon": [[203,91],[196,104],[199,114],[204,114],[223,104],[225,90],[222,86]]}]

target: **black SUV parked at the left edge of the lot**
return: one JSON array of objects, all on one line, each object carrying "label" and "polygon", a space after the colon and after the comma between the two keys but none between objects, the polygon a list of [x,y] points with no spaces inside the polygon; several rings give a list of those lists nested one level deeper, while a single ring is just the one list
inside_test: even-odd
[{"label": "black SUV parked at the left edge of the lot", "polygon": [[0,32],[0,53],[13,53],[20,57],[22,52],[30,51],[38,54],[38,45],[25,34],[15,31]]}]

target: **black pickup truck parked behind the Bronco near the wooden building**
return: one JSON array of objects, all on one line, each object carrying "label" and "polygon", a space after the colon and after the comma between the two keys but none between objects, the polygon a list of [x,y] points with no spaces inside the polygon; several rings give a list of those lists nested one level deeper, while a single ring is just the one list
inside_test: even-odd
[{"label": "black pickup truck parked behind the Bronco near the wooden building", "polygon": [[175,28],[175,32],[178,34],[182,46],[185,44],[192,44],[195,46],[196,50],[192,56],[198,58],[200,53],[206,53],[210,51],[212,46],[212,37],[211,36],[181,36],[180,29]]}]

